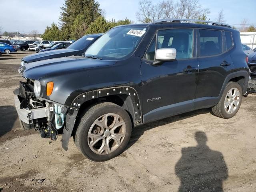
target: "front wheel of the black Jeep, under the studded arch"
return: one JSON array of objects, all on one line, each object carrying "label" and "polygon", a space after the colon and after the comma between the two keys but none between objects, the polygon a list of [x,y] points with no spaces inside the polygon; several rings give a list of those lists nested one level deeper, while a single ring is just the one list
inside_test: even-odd
[{"label": "front wheel of the black Jeep, under the studded arch", "polygon": [[[106,124],[105,119],[108,120]],[[101,162],[121,154],[130,140],[131,132],[132,122],[128,113],[114,103],[104,102],[92,106],[84,113],[74,141],[86,158]]]}]

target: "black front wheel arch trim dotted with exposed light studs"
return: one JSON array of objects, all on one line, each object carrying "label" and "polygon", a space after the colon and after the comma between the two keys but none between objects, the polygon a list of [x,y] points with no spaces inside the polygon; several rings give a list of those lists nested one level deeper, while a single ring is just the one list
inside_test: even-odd
[{"label": "black front wheel arch trim dotted with exposed light studs", "polygon": [[105,96],[122,94],[127,95],[132,100],[133,111],[130,111],[130,113],[132,113],[132,116],[134,118],[134,126],[142,124],[142,108],[138,93],[134,88],[130,86],[116,86],[84,92],[76,96],[68,110],[68,113],[66,114],[65,127],[63,129],[62,136],[62,148],[64,148],[64,150],[68,150],[68,142],[72,135],[72,131],[76,122],[76,116],[84,102]]}]

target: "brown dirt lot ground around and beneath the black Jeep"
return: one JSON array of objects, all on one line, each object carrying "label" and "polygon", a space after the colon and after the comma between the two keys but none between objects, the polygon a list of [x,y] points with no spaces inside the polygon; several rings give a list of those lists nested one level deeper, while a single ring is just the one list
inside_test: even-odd
[{"label": "brown dirt lot ground around and beneath the black Jeep", "polygon": [[21,130],[12,92],[28,54],[0,56],[0,191],[256,191],[256,95],[232,119],[204,109],[140,126],[120,156],[92,162]]}]

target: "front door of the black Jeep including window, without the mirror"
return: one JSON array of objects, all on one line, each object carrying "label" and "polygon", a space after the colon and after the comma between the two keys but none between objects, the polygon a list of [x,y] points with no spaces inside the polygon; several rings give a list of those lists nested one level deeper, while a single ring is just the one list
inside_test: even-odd
[{"label": "front door of the black Jeep including window, without the mirror", "polygon": [[[198,77],[193,29],[159,30],[142,60],[144,122],[190,111]],[[154,65],[155,50],[175,48],[176,60]]]}]

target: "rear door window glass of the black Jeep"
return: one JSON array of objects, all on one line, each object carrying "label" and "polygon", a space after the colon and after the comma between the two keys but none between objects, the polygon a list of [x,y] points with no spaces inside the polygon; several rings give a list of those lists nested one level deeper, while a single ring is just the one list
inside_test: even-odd
[{"label": "rear door window glass of the black Jeep", "polygon": [[200,55],[212,56],[222,53],[222,33],[217,30],[199,30]]}]

